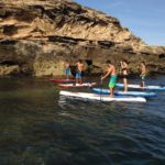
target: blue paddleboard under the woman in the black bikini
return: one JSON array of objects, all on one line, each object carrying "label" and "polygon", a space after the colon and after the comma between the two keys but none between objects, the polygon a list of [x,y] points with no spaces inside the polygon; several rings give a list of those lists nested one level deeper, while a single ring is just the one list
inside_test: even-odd
[{"label": "blue paddleboard under the woman in the black bikini", "polygon": [[[99,95],[110,95],[109,89],[101,89],[101,88],[92,88],[92,91]],[[144,92],[144,91],[114,91],[116,96],[135,96],[135,97],[145,97],[152,98],[156,97],[156,92]]]}]

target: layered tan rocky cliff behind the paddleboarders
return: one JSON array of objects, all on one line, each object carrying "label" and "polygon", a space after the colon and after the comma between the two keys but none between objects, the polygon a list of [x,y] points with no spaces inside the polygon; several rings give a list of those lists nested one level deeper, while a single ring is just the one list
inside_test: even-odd
[{"label": "layered tan rocky cliff behind the paddleboarders", "polygon": [[132,62],[132,73],[139,61],[151,73],[165,73],[165,47],[147,46],[116,18],[70,0],[0,1],[1,76],[62,75],[64,59],[78,58],[92,62],[92,73],[122,58]]}]

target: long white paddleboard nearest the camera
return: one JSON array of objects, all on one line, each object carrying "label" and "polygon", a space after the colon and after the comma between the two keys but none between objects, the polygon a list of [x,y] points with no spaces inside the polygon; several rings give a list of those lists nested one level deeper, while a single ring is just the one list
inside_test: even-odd
[{"label": "long white paddleboard nearest the camera", "polygon": [[116,96],[116,97],[109,97],[109,96],[99,96],[96,94],[88,94],[88,92],[72,92],[72,91],[65,91],[61,90],[59,95],[75,98],[75,99],[82,99],[82,100],[96,100],[96,101],[122,101],[122,102],[146,102],[145,98],[142,97],[123,97],[123,96]]}]

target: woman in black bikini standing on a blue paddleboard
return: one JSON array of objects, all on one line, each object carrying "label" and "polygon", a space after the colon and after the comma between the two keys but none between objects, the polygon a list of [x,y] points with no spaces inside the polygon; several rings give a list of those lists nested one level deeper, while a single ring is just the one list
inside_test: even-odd
[{"label": "woman in black bikini standing on a blue paddleboard", "polygon": [[121,75],[123,78],[123,85],[124,85],[124,92],[128,91],[128,66],[129,66],[129,62],[128,61],[121,61],[120,62],[121,65]]}]

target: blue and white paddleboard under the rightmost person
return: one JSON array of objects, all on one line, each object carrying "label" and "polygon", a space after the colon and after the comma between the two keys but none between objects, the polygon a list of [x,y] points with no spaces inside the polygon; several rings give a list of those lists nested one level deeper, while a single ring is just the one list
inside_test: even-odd
[{"label": "blue and white paddleboard under the rightmost person", "polygon": [[[123,88],[123,84],[117,84],[116,87]],[[145,87],[141,87],[140,85],[128,85],[128,88],[165,91],[165,87],[162,87],[162,86],[145,86]]]}]

